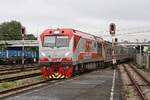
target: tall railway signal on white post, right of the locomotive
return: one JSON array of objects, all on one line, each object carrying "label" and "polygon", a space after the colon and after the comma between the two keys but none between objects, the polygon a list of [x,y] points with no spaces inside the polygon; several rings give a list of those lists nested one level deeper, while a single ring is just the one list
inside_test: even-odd
[{"label": "tall railway signal on white post, right of the locomotive", "polygon": [[116,33],[116,25],[114,23],[110,23],[109,25],[109,33],[112,36],[112,63],[113,69],[116,67],[116,57],[115,57],[115,45],[117,44],[117,38],[115,38]]}]

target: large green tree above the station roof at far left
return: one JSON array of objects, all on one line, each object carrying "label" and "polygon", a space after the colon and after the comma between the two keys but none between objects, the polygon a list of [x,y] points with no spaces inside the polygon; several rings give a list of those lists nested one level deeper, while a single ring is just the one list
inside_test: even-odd
[{"label": "large green tree above the station roof at far left", "polygon": [[21,38],[20,22],[10,21],[0,24],[0,40],[20,40]]}]

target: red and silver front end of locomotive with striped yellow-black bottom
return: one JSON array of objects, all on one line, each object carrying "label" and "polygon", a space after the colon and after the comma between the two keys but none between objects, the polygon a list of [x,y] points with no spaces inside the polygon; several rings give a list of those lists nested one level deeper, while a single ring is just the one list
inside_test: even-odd
[{"label": "red and silver front end of locomotive with striped yellow-black bottom", "polygon": [[72,76],[72,35],[69,29],[47,29],[40,35],[39,63],[47,79]]}]

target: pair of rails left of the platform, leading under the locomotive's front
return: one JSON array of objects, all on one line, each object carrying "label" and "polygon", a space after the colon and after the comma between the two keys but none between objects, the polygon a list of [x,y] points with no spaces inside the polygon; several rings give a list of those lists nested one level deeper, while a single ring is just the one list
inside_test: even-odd
[{"label": "pair of rails left of the platform, leading under the locomotive's front", "polygon": [[[29,74],[22,74],[22,75],[17,75],[17,76],[12,76],[12,77],[4,77],[4,78],[1,78],[0,79],[0,84],[7,84],[7,83],[12,83],[12,82],[19,82],[20,80],[32,80],[34,79],[35,77],[39,77],[41,74],[40,72],[33,72],[33,73],[29,73]],[[48,80],[38,80],[38,81],[33,81],[33,82],[29,82],[29,83],[26,83],[26,84],[22,84],[22,85],[18,85],[18,86],[15,86],[13,88],[8,88],[8,89],[4,89],[4,90],[1,90],[0,91],[0,97],[3,97],[3,95],[7,96],[9,94],[13,94],[13,92],[15,93],[16,91],[22,91],[22,89],[26,89],[26,88],[29,88],[32,86],[36,86],[36,85],[39,85],[39,84],[43,84],[43,83],[46,83],[48,82]],[[17,92],[16,92],[17,93]]]}]

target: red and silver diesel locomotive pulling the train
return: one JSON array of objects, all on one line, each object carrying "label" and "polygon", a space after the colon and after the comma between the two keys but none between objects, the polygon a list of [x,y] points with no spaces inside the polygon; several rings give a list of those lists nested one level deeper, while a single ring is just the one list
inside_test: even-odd
[{"label": "red and silver diesel locomotive pulling the train", "polygon": [[[49,79],[69,78],[103,67],[111,59],[110,44],[101,37],[71,28],[46,29],[40,35],[41,73]],[[122,53],[121,49],[117,60],[123,57]],[[126,53],[122,59],[129,57]]]}]

